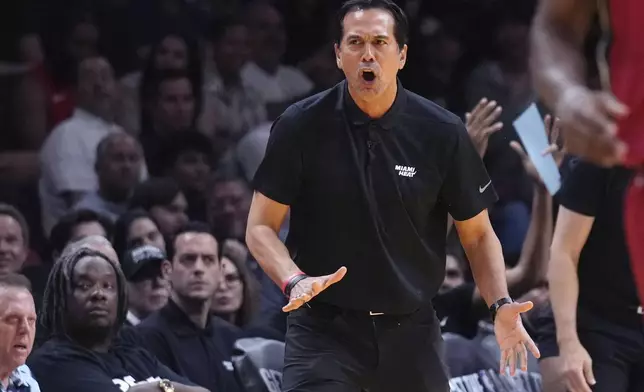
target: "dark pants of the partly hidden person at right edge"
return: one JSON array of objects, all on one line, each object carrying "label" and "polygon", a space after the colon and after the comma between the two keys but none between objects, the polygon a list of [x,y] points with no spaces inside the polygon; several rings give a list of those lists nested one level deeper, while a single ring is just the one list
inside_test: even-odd
[{"label": "dark pants of the partly hidden person at right edge", "polygon": [[[614,313],[613,310],[610,313]],[[619,315],[609,321],[610,313],[597,314],[579,309],[577,333],[582,346],[593,360],[597,384],[594,392],[644,391],[644,330],[641,315]],[[626,317],[624,317],[626,316]],[[559,355],[552,313],[540,320],[537,344],[541,358]]]}]

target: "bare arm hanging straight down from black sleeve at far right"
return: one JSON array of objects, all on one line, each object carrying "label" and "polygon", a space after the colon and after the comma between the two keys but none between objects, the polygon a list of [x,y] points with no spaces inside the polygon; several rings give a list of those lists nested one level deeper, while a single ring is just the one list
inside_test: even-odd
[{"label": "bare arm hanging straight down from black sleeve at far right", "polygon": [[559,208],[550,250],[548,283],[557,326],[557,341],[578,341],[577,299],[579,254],[588,239],[594,218]]}]

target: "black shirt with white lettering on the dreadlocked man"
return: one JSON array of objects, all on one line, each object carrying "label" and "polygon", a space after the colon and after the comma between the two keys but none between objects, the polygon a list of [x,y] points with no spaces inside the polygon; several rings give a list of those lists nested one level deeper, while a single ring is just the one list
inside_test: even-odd
[{"label": "black shirt with white lettering on the dreadlocked man", "polygon": [[143,348],[121,341],[100,353],[53,338],[34,351],[27,364],[42,392],[119,392],[162,379],[194,385]]}]

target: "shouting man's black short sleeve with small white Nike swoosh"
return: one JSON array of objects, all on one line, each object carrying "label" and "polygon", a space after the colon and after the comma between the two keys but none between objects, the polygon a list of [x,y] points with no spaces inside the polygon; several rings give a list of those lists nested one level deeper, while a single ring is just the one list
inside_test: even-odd
[{"label": "shouting man's black short sleeve with small white Nike swoosh", "polygon": [[457,221],[475,217],[498,199],[490,176],[463,124],[457,135],[441,187],[441,200]]}]

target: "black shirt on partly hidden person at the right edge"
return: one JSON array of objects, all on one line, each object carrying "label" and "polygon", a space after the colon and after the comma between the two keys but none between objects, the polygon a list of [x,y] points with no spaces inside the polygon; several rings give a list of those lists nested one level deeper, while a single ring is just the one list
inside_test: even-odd
[{"label": "black shirt on partly hidden person at the right edge", "polygon": [[571,211],[594,217],[579,256],[579,307],[608,320],[618,323],[633,320],[639,325],[640,301],[623,222],[624,197],[634,172],[623,167],[601,168],[579,159],[572,160],[570,166],[558,194],[559,203]]}]

